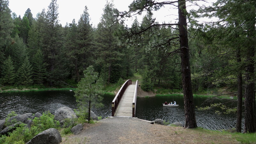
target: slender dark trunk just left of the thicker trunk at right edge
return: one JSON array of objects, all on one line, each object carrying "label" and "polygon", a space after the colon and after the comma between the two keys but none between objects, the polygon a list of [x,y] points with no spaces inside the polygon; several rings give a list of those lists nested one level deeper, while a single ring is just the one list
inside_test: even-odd
[{"label": "slender dark trunk just left of the thicker trunk at right edge", "polygon": [[[238,64],[241,63],[240,49],[237,50],[236,58]],[[239,68],[237,74],[237,114],[236,114],[236,132],[242,131],[242,99],[243,99],[243,89],[242,89],[242,73]]]}]

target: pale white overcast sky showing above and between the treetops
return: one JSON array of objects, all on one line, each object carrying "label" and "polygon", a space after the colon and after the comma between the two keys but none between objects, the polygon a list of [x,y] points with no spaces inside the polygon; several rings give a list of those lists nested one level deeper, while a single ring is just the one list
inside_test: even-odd
[{"label": "pale white overcast sky showing above and between the treetops", "polygon": [[[128,6],[132,3],[133,0],[113,0],[115,7],[119,11],[127,11]],[[62,26],[65,26],[66,23],[72,23],[72,20],[75,19],[76,22],[79,20],[81,14],[84,12],[85,5],[88,8],[89,15],[91,17],[91,23],[93,26],[97,26],[100,22],[101,15],[103,13],[103,8],[106,4],[106,0],[57,0],[59,5],[59,20]],[[51,0],[9,0],[9,8],[12,12],[15,12],[17,16],[23,17],[24,13],[28,8],[30,8],[33,17],[36,17],[38,12],[42,12],[43,9],[47,11]],[[194,8],[194,6],[190,7]],[[177,9],[170,9],[170,7],[165,7],[160,9],[160,11],[154,13],[154,17],[160,23],[172,22],[174,23],[177,15]],[[142,16],[138,16],[139,21],[141,21]],[[127,20],[125,23],[130,26],[133,22],[133,19]]]}]

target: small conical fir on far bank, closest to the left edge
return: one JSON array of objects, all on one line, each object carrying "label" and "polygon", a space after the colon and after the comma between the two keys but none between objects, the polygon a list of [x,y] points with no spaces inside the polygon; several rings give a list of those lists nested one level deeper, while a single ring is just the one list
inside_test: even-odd
[{"label": "small conical fir on far bank, closest to the left edge", "polygon": [[2,66],[2,83],[12,85],[15,82],[15,71],[11,56],[4,61]]}]

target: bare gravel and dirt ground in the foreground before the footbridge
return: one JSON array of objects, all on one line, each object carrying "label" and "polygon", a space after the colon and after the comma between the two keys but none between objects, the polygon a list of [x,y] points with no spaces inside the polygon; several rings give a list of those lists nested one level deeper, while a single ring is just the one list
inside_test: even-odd
[{"label": "bare gravel and dirt ground in the foreground before the footbridge", "polygon": [[229,135],[200,133],[182,127],[150,124],[131,117],[113,117],[86,124],[78,135],[62,137],[62,144],[80,143],[238,143]]}]

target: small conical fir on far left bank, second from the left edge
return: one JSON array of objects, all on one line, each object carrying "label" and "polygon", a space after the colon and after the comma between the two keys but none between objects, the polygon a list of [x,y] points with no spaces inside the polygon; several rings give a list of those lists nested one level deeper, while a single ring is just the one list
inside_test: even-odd
[{"label": "small conical fir on far left bank, second from the left edge", "polygon": [[33,84],[32,74],[32,66],[28,60],[28,56],[26,56],[26,58],[22,62],[22,65],[17,71],[17,84],[25,86]]}]

